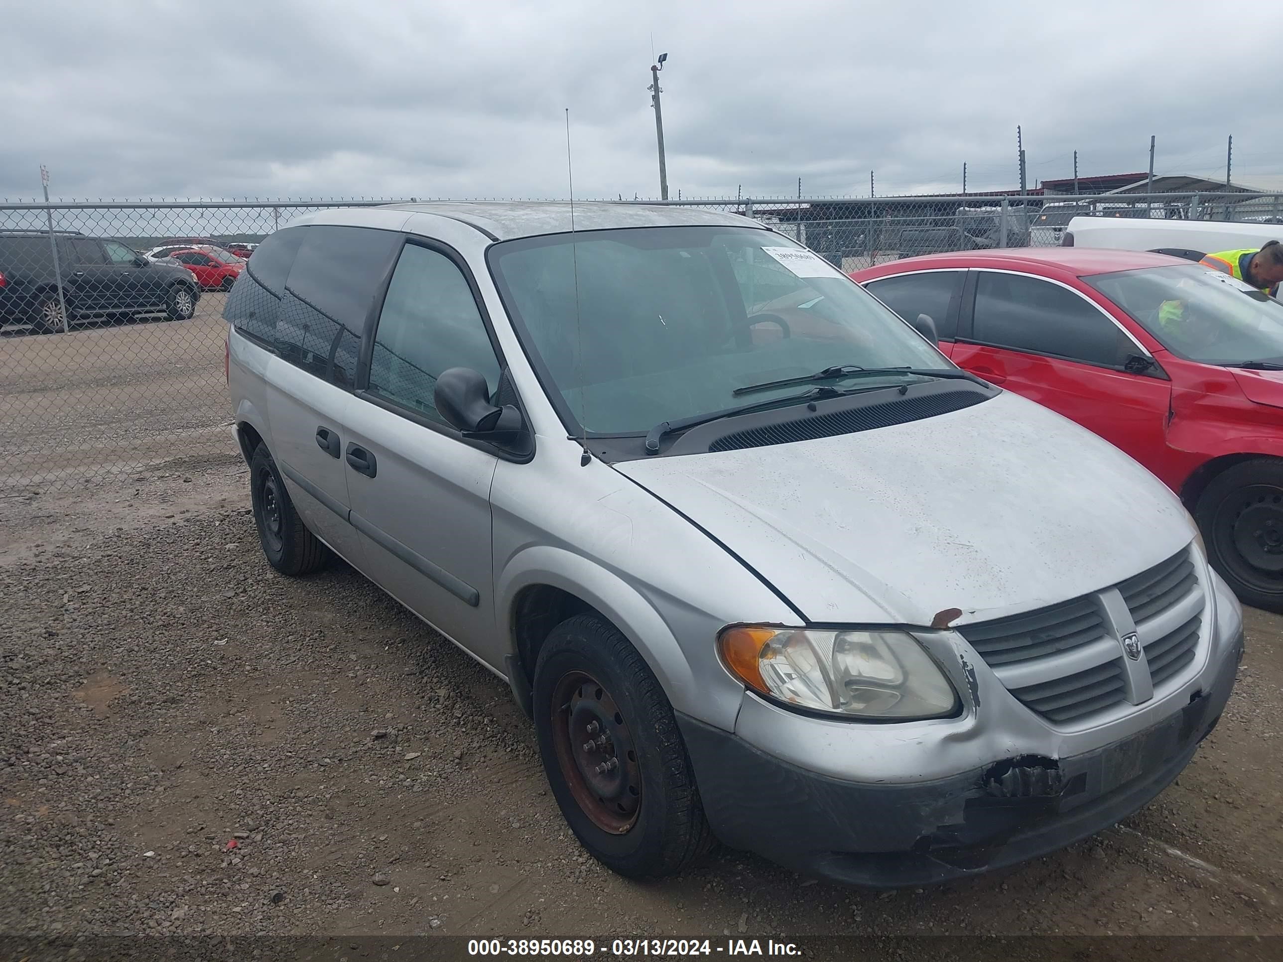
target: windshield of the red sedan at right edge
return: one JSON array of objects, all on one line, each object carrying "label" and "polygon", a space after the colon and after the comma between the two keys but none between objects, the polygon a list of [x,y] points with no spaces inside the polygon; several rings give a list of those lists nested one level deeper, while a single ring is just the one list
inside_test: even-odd
[{"label": "windshield of the red sedan at right edge", "polygon": [[1084,277],[1164,348],[1205,364],[1283,363],[1283,304],[1200,264]]}]

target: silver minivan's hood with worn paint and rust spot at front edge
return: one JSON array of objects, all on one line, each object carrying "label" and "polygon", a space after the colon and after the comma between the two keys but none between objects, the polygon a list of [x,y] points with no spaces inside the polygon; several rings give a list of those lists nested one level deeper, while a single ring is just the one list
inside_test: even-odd
[{"label": "silver minivan's hood with worn paint and rust spot at front edge", "polygon": [[1150,472],[1003,392],[894,427],[616,464],[810,622],[987,621],[1121,581],[1189,544]]}]

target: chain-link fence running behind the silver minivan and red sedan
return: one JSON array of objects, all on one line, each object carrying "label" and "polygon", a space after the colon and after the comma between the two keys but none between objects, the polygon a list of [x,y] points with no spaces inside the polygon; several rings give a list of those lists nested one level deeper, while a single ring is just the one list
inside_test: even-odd
[{"label": "chain-link fence running behind the silver minivan and red sedan", "polygon": [[[234,457],[222,308],[254,246],[302,214],[413,201],[0,204],[0,496]],[[1052,246],[1078,215],[1278,223],[1283,235],[1283,194],[668,203],[754,218],[848,272]]]}]

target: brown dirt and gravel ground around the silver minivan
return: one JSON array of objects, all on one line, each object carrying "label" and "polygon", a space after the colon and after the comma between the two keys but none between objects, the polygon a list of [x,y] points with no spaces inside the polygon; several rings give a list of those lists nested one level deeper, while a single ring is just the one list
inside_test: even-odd
[{"label": "brown dirt and gravel ground around the silver minivan", "polygon": [[894,894],[725,850],[639,885],[565,829],[499,680],[341,564],[268,568],[221,367],[213,317],[0,340],[32,416],[0,427],[0,935],[1283,934],[1283,618],[1248,612],[1179,781],[1070,850]]}]

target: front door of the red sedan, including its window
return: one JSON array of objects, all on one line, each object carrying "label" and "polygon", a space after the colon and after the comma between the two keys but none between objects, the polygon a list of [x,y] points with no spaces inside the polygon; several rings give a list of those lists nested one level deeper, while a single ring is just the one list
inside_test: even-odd
[{"label": "front door of the red sedan, including its window", "polygon": [[1171,381],[1114,318],[1073,287],[973,271],[953,360],[1165,473]]}]

